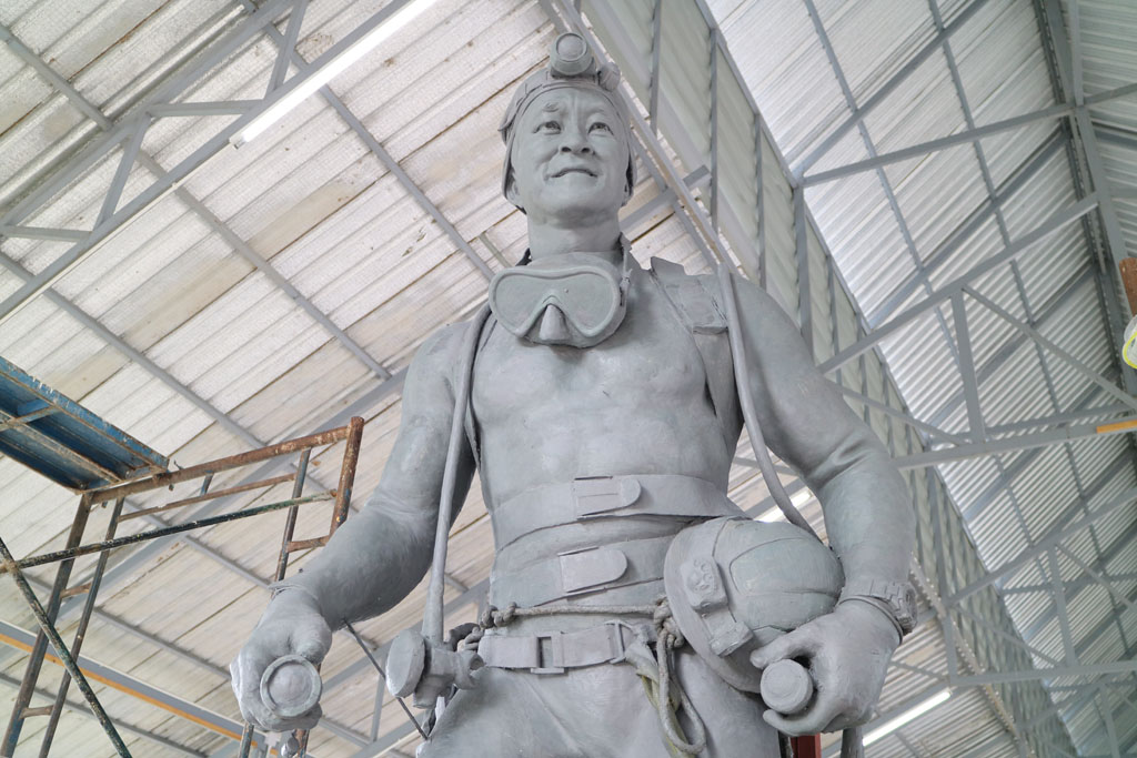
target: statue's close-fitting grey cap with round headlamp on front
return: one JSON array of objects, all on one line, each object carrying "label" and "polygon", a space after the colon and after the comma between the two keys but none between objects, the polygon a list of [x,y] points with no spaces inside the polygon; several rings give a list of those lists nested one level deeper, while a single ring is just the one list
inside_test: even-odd
[{"label": "statue's close-fitting grey cap with round headlamp on front", "polygon": [[[632,132],[629,126],[628,111],[616,92],[620,85],[620,69],[613,63],[599,63],[588,48],[588,42],[575,32],[565,32],[556,39],[549,50],[549,65],[531,75],[517,88],[506,108],[505,118],[498,132],[505,142],[505,165],[501,167],[501,194],[505,194],[509,181],[509,169],[513,156],[514,126],[525,109],[532,105],[537,95],[561,88],[588,89],[599,92],[612,103],[620,116],[617,133],[628,145],[628,188],[636,186],[636,158],[632,156]],[[524,211],[524,208],[521,209]]]}]

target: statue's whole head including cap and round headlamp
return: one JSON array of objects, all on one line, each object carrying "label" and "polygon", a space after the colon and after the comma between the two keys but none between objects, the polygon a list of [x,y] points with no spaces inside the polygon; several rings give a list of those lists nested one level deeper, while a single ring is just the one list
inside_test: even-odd
[{"label": "statue's whole head including cap and round headlamp", "polygon": [[531,218],[586,223],[615,214],[636,186],[620,69],[598,64],[579,34],[557,38],[548,68],[518,88],[499,131],[501,189]]}]

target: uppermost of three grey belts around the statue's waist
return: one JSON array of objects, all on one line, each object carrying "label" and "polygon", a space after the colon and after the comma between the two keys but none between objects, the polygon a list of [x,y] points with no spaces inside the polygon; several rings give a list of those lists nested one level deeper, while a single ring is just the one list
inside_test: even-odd
[{"label": "uppermost of three grey belts around the statue's waist", "polygon": [[528,490],[493,509],[497,549],[549,526],[594,518],[739,516],[741,509],[713,483],[679,474],[589,476]]}]

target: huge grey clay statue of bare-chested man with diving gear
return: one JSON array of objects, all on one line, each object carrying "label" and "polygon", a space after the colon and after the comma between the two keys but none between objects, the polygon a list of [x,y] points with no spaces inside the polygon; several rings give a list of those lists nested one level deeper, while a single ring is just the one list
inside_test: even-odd
[{"label": "huge grey clay statue of bare-chested man with diving gear", "polygon": [[[423,578],[448,448],[456,507],[480,472],[499,610],[467,640],[483,667],[434,681],[453,697],[421,756],[773,758],[779,731],[866,719],[913,623],[906,486],[764,292],[636,264],[617,218],[634,186],[619,77],[562,35],[514,97],[504,191],[529,252],[491,283],[488,319],[420,349],[379,488],[282,583],[233,661],[251,723],[314,725],[318,706],[281,718],[262,702],[266,667],[318,663],[333,628]],[[752,438],[818,494],[831,551],[727,498],[747,410]],[[422,694],[437,656],[426,643],[425,664],[392,661],[399,686]],[[758,684],[789,659],[814,686],[779,713]]]}]

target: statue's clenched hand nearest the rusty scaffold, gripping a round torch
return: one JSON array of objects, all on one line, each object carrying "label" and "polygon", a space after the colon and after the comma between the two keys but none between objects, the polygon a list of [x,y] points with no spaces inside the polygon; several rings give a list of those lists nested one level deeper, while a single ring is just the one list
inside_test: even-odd
[{"label": "statue's clenched hand nearest the rusty scaffold, gripping a round torch", "polygon": [[321,717],[317,703],[294,718],[281,718],[260,699],[260,677],[283,656],[298,655],[318,665],[332,647],[332,631],[316,602],[302,590],[285,590],[276,595],[249,641],[229,665],[233,692],[247,722],[268,732],[312,728]]}]

